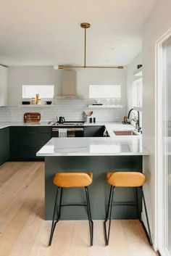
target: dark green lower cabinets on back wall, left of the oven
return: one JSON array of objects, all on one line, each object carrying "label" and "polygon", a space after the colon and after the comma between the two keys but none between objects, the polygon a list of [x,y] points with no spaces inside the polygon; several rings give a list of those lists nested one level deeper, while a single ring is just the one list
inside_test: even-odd
[{"label": "dark green lower cabinets on back wall, left of the oven", "polygon": [[51,127],[11,127],[10,160],[43,160],[43,157],[36,157],[36,153],[50,139]]}]

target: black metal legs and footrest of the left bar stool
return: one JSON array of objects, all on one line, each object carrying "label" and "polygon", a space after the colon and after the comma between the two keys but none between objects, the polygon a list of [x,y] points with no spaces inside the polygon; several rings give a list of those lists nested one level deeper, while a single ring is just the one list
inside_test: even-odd
[{"label": "black metal legs and footrest of the left bar stool", "polygon": [[[57,199],[58,199],[59,189],[60,189],[61,193],[60,193],[60,200],[59,200],[59,211],[57,211],[57,208],[58,208],[57,207]],[[89,221],[89,228],[90,228],[90,236],[91,236],[91,245],[93,245],[93,220],[91,218],[91,206],[90,206],[90,199],[89,199],[89,194],[88,194],[88,187],[85,186],[86,204],[66,204],[66,205],[62,205],[62,191],[63,191],[63,188],[58,186],[56,197],[55,197],[55,202],[54,202],[54,213],[53,213],[53,220],[52,220],[52,224],[51,224],[51,235],[50,235],[50,239],[49,239],[49,246],[51,246],[51,241],[52,241],[53,235],[54,235],[54,229],[55,229],[55,227],[56,227],[56,225],[57,225],[57,223],[58,223],[58,221],[60,220],[60,217],[61,217],[61,208],[65,207],[65,206],[86,206],[87,207],[88,221]],[[57,215],[57,219],[55,218],[56,215]]]}]

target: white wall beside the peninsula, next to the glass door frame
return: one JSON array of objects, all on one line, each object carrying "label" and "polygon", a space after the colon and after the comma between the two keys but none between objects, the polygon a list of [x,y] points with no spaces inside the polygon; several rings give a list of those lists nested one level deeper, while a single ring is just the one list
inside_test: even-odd
[{"label": "white wall beside the peninsula, next to the glass door frame", "polygon": [[[155,232],[155,41],[171,28],[171,1],[159,1],[143,25],[143,144],[150,152],[144,157],[143,170],[150,223]],[[150,204],[151,202],[151,204]],[[150,206],[151,205],[151,206]],[[154,244],[156,246],[156,244]]]}]

